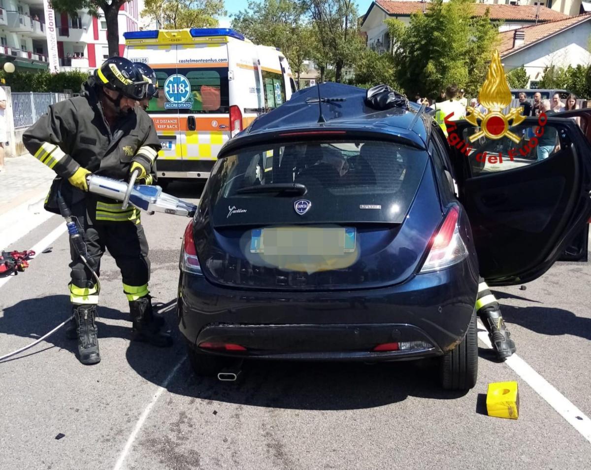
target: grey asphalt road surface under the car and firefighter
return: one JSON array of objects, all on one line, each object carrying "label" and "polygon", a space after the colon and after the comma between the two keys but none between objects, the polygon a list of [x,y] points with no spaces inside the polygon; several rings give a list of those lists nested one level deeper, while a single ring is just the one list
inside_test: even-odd
[{"label": "grey asphalt road surface under the car and firefighter", "polygon": [[[171,190],[198,197],[200,187]],[[253,363],[237,384],[193,377],[174,330],[178,250],[188,219],[142,220],[150,288],[173,327],[173,348],[129,341],[121,278],[105,255],[100,364],[80,364],[76,341],[63,330],[0,363],[2,470],[591,468],[589,440],[540,396],[544,390],[493,361],[482,342],[478,384],[468,393],[440,390],[430,361]],[[54,216],[10,248],[31,248],[60,225]],[[69,315],[66,234],[51,246],[25,273],[0,280],[0,355]],[[495,290],[518,355],[587,416],[590,284],[591,264],[572,263],[555,265],[525,291]],[[519,419],[482,414],[488,384],[511,380],[519,383]],[[59,433],[65,436],[56,439]]]}]

